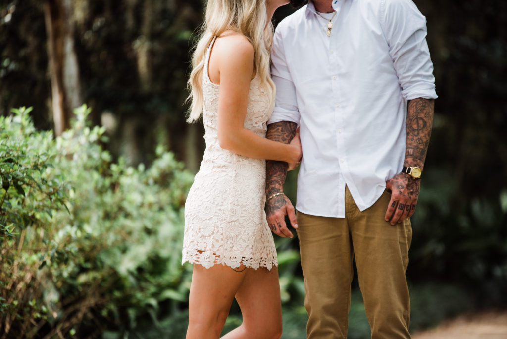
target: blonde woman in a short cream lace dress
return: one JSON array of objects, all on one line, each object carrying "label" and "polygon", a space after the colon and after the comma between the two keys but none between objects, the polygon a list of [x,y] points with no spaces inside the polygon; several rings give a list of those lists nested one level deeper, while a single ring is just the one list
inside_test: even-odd
[{"label": "blonde woman in a short cream lace dress", "polygon": [[[275,88],[271,17],[285,0],[208,0],[193,55],[188,121],[206,150],[185,205],[183,262],[194,264],[187,338],[218,338],[236,298],[243,323],[224,338],[279,338],[280,289],[264,212],[265,159],[296,164],[299,137],[265,139]],[[292,234],[286,234],[292,238]]]}]

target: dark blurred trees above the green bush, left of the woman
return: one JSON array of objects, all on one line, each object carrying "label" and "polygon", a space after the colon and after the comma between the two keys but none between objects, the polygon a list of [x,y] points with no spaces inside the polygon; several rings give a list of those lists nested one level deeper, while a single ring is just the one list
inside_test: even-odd
[{"label": "dark blurred trees above the green bush, left of the woman", "polygon": [[[201,1],[23,0],[0,21],[0,113],[33,106],[34,123],[60,135],[74,108],[107,126],[115,155],[150,162],[168,145],[196,171],[202,145],[187,126],[189,49]],[[24,104],[20,104],[24,102]],[[63,126],[63,127],[60,127]],[[187,147],[187,144],[189,147]]]}]

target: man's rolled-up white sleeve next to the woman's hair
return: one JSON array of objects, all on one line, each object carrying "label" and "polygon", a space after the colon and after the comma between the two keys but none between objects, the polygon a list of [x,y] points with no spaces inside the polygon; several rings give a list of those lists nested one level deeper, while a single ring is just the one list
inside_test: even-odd
[{"label": "man's rolled-up white sleeve next to the woman's hair", "polygon": [[299,124],[300,115],[296,87],[287,67],[281,33],[278,28],[275,31],[271,49],[271,77],[276,85],[276,98],[273,114],[268,121],[268,125],[280,121]]}]

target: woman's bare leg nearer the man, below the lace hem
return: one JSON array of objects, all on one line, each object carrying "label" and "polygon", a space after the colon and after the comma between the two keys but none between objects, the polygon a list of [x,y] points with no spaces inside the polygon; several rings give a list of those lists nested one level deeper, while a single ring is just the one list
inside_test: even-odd
[{"label": "woman's bare leg nearer the man, below the lace hem", "polygon": [[246,270],[246,277],[236,293],[243,323],[222,339],[279,339],[282,311],[278,268]]}]

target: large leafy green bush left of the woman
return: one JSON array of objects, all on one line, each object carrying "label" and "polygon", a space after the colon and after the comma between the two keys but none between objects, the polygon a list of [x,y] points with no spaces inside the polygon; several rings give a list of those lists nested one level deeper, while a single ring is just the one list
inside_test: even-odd
[{"label": "large leafy green bush left of the woman", "polygon": [[[40,154],[42,160],[26,163],[44,168],[29,181],[11,175],[27,193],[9,187],[9,202],[19,209],[2,210],[7,220],[21,213],[31,217],[21,219],[29,222],[19,225],[20,234],[10,232],[9,246],[2,248],[0,281],[7,288],[0,295],[6,311],[0,331],[9,337],[127,330],[142,317],[174,312],[187,299],[190,275],[180,250],[183,203],[193,176],[162,148],[148,169],[112,162],[101,147],[104,129],[88,126],[86,107],[76,114],[74,127],[56,140],[33,129],[27,110],[0,120],[3,135],[9,135],[3,145],[9,140],[25,146],[26,154],[6,146],[9,156],[16,150],[20,158]],[[13,123],[19,119],[25,124]],[[25,162],[15,163],[24,175]],[[4,177],[14,171],[2,168]]]}]

